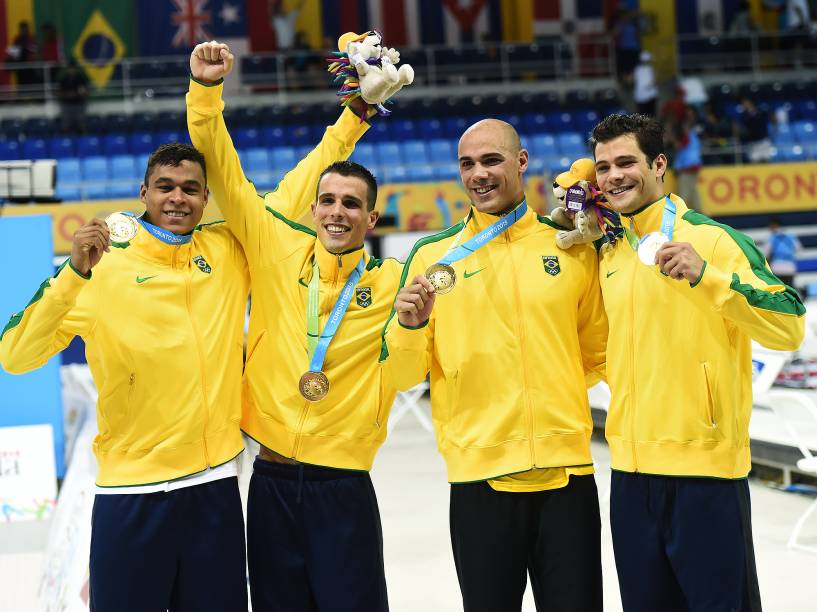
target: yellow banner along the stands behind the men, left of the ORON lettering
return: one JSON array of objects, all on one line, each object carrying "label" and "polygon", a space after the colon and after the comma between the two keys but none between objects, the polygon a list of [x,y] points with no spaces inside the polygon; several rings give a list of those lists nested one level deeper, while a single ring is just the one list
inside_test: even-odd
[{"label": "yellow banner along the stands behind the men, left of the ORON lettering", "polygon": [[[540,214],[552,206],[552,179],[535,176],[528,179],[526,195],[528,205]],[[99,200],[95,202],[68,202],[63,204],[39,204],[37,206],[8,205],[3,216],[50,215],[54,235],[54,253],[66,255],[71,252],[74,232],[94,217],[104,219],[112,212],[125,211],[142,214],[145,208],[138,200]],[[394,220],[380,228],[378,233],[394,231],[439,230],[459,221],[468,212],[468,198],[458,181],[445,183],[393,183],[382,185],[378,190],[377,210]],[[221,218],[221,211],[214,198],[204,209],[202,223]],[[311,225],[310,215],[297,221]]]}]

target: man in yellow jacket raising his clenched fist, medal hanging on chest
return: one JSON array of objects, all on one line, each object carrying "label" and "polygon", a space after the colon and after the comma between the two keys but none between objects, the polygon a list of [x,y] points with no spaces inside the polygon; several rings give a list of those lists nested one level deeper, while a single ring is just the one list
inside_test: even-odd
[{"label": "man in yellow jacket raising his clenched fist, medal hanging on chest", "polygon": [[[402,265],[363,247],[377,184],[358,164],[302,162],[323,169],[297,184],[314,194],[315,230],[264,206],[222,116],[231,67],[226,45],[196,47],[187,116],[252,279],[241,427],[261,444],[247,505],[253,610],[385,611],[368,471],[396,395],[380,356]],[[339,125],[355,138],[368,129],[350,110]]]}]

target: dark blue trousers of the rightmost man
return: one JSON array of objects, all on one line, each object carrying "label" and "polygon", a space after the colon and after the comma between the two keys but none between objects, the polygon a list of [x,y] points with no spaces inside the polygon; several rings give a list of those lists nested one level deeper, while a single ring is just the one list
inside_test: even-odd
[{"label": "dark blue trousers of the rightmost man", "polygon": [[760,610],[747,480],[613,471],[624,612]]}]

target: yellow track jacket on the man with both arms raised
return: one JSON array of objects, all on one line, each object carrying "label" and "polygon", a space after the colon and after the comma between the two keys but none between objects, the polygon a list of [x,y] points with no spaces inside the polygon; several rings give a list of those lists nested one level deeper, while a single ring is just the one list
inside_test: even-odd
[{"label": "yellow track jacket on the man with both arms raised", "polygon": [[[402,265],[374,259],[362,248],[333,255],[312,229],[265,206],[241,170],[222,118],[220,90],[191,82],[188,127],[193,144],[207,159],[211,189],[247,253],[252,278],[242,429],[298,461],[369,470],[385,440],[385,423],[396,395],[379,357]],[[286,188],[314,201],[321,171],[347,158],[366,129],[367,124],[345,110],[318,148],[287,175]],[[308,402],[298,391],[298,381],[309,369],[306,304],[313,258],[321,276],[322,330],[361,255],[366,258],[365,271],[323,366],[329,395]]]}]

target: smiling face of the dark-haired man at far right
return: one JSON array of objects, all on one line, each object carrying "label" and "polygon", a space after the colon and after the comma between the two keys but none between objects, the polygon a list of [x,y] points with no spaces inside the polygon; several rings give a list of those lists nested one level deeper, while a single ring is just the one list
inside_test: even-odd
[{"label": "smiling face of the dark-haired man at far right", "polygon": [[599,189],[617,212],[635,212],[664,194],[667,158],[662,153],[648,163],[634,134],[599,142],[595,153]]}]

